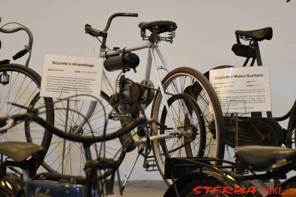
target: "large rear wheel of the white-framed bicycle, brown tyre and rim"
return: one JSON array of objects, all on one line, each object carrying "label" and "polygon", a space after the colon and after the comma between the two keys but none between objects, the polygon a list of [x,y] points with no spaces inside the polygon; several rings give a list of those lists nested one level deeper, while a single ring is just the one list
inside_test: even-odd
[{"label": "large rear wheel of the white-framed bicycle, brown tyre and rim", "polygon": [[[186,93],[195,99],[202,113],[206,133],[204,154],[199,156],[223,158],[225,146],[224,122],[218,98],[209,81],[195,69],[183,67],[168,73],[162,80],[162,85],[165,92],[173,95]],[[171,95],[166,93],[165,97],[165,100],[168,100]],[[164,99],[160,92],[157,92],[153,100],[151,117],[160,120],[163,106]],[[174,121],[178,125],[175,119]],[[168,127],[171,127],[171,125],[168,125]],[[153,128],[159,134],[159,129],[156,126]],[[152,134],[155,135],[156,133]],[[179,148],[183,147],[180,146]],[[159,141],[153,142],[152,149],[158,170],[164,177],[164,158],[166,156]],[[176,150],[176,148],[172,150]],[[165,182],[168,185],[171,184],[168,180],[165,180]]]}]

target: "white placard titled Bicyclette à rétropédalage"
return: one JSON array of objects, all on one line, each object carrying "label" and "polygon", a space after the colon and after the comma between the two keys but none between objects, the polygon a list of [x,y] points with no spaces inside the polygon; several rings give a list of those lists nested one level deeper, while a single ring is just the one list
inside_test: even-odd
[{"label": "white placard titled Bicyclette \u00e0 r\u00e9trop\u00e9dalage", "polygon": [[100,98],[103,59],[69,55],[48,55],[44,57],[40,95],[71,100],[94,100],[88,94]]}]

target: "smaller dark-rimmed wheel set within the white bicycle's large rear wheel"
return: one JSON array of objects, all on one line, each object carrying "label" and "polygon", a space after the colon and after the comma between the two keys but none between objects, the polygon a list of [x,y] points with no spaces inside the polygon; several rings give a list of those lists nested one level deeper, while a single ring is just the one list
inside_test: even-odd
[{"label": "smaller dark-rimmed wheel set within the white bicycle's large rear wheel", "polygon": [[[165,158],[169,157],[202,157],[205,152],[205,122],[194,99],[187,94],[176,94],[168,99],[168,105],[178,130],[184,135],[177,138],[160,139]],[[165,106],[161,112],[160,123],[170,125]],[[172,132],[172,128],[160,128],[160,134]]]}]

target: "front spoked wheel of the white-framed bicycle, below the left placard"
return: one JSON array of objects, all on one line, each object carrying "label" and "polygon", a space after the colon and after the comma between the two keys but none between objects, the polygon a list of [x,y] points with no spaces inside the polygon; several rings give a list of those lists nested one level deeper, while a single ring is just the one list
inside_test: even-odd
[{"label": "front spoked wheel of the white-framed bicycle, below the left placard", "polygon": [[[85,124],[76,135],[103,135],[105,124],[105,112],[111,114],[114,112],[113,107],[110,105],[109,96],[101,91],[100,102],[97,103],[92,116],[88,119],[89,124]],[[67,104],[69,104],[68,118]],[[54,104],[55,108],[55,126],[65,132],[74,133],[76,128],[80,125],[83,118],[81,115],[85,115],[90,106],[90,101],[66,101],[61,100]],[[103,107],[104,106],[104,107]],[[105,110],[105,111],[104,111]],[[117,110],[116,110],[117,112]],[[67,121],[66,121],[67,120]],[[90,128],[91,126],[91,128]],[[119,120],[109,120],[107,125],[107,134],[116,132],[121,127]],[[91,132],[91,129],[93,132]],[[106,158],[115,158],[119,163],[122,162],[125,152],[121,149],[120,140],[114,139],[107,141],[105,144],[97,143],[91,145],[91,155],[96,156],[97,152],[103,153],[106,150]],[[118,154],[117,154],[118,152]],[[50,172],[57,172],[61,174],[71,175],[84,175],[83,171],[84,163],[86,161],[84,149],[82,144],[64,140],[56,135],[53,135],[51,145],[47,151],[47,155],[44,158],[43,167]],[[111,171],[102,172],[101,177],[109,176]]]}]

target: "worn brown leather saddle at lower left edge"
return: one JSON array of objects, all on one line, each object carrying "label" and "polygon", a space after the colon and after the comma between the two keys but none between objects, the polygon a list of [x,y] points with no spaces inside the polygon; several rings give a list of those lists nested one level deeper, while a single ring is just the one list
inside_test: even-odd
[{"label": "worn brown leather saddle at lower left edge", "polygon": [[1,142],[0,154],[5,155],[15,161],[23,161],[35,153],[46,153],[43,146],[29,142]]}]

